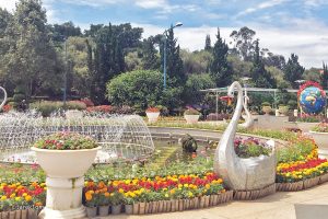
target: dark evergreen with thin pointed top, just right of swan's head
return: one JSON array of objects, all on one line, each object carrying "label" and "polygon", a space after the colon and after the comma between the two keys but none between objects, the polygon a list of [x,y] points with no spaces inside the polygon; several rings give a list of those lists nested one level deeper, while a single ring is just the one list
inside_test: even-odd
[{"label": "dark evergreen with thin pointed top, just right of swan's head", "polygon": [[250,69],[251,78],[257,88],[274,88],[276,80],[269,71],[266,70],[263,61],[260,57],[260,49],[258,39],[255,42],[255,54],[253,59],[253,67]]}]

